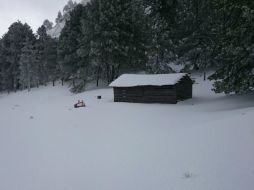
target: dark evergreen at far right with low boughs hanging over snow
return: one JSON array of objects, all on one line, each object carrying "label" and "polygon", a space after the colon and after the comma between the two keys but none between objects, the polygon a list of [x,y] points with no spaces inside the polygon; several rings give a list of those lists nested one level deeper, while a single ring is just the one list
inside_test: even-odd
[{"label": "dark evergreen at far right with low boughs hanging over snow", "polygon": [[[254,2],[216,1],[217,54],[215,92],[246,93],[254,89]],[[219,24],[218,24],[219,23]]]}]

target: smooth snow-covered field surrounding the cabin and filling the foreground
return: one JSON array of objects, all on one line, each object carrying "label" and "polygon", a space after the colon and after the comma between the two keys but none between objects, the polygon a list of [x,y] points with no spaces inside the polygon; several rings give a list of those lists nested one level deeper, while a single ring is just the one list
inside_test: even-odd
[{"label": "smooth snow-covered field surrounding the cabin and filling the foreground", "polygon": [[177,105],[60,85],[1,94],[0,190],[253,190],[254,96],[197,82]]}]

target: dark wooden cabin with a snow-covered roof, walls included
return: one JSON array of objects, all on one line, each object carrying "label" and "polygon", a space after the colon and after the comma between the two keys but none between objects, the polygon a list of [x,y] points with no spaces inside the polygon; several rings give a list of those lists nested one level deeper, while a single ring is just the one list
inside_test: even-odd
[{"label": "dark wooden cabin with a snow-covered roof, walls included", "polygon": [[192,80],[187,73],[124,74],[110,87],[115,102],[176,104],[192,98]]}]

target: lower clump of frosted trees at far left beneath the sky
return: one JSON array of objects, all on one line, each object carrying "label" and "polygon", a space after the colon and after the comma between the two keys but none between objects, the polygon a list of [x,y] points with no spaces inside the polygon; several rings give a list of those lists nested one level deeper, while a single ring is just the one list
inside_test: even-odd
[{"label": "lower clump of frosted trees at far left beneath the sky", "polygon": [[34,35],[27,24],[15,22],[0,43],[1,91],[30,90],[59,77],[57,41],[44,26]]}]

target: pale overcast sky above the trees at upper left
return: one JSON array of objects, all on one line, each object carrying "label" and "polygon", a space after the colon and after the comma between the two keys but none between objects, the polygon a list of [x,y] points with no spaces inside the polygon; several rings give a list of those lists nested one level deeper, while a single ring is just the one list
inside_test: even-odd
[{"label": "pale overcast sky above the trees at upper left", "polygon": [[54,22],[58,11],[67,2],[68,0],[0,0],[0,37],[17,20],[26,22],[35,32],[45,19]]}]

